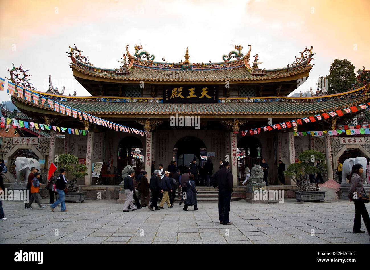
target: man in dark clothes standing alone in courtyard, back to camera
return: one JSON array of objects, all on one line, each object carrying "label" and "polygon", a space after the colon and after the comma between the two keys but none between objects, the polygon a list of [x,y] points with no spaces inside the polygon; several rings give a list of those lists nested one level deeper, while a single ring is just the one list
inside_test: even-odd
[{"label": "man in dark clothes standing alone in courtyard, back to camera", "polygon": [[232,193],[232,173],[228,169],[229,163],[224,162],[222,169],[212,176],[213,187],[218,188],[218,216],[220,224],[231,225],[229,220],[230,200]]}]

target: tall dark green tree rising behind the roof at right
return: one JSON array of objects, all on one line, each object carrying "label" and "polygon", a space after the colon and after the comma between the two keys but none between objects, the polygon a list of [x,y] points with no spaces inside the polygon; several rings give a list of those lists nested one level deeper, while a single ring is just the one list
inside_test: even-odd
[{"label": "tall dark green tree rising behind the roof at right", "polygon": [[352,89],[356,81],[354,69],[355,66],[347,59],[335,59],[330,66],[329,75],[326,76],[329,93],[342,93]]}]

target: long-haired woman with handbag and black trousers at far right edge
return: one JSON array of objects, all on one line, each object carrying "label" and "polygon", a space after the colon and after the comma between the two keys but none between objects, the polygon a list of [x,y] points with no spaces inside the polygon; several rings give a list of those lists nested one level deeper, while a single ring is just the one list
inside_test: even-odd
[{"label": "long-haired woman with handbag and black trousers at far right edge", "polygon": [[360,176],[363,172],[364,169],[361,164],[354,164],[350,175],[351,188],[349,190],[348,197],[350,198],[350,201],[354,202],[354,209],[356,209],[356,214],[354,215],[353,233],[365,233],[365,231],[361,231],[361,216],[364,220],[367,232],[370,233],[370,217],[365,206],[365,201],[369,201],[369,196],[367,196],[365,193],[362,183],[363,180]]}]

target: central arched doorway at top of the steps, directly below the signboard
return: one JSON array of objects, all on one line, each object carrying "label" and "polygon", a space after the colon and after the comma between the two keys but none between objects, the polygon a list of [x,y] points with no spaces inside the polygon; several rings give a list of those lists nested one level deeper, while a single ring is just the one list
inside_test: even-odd
[{"label": "central arched doorway at top of the steps, directly below the signboard", "polygon": [[181,173],[185,173],[190,163],[196,159],[199,169],[199,179],[205,178],[203,164],[207,162],[207,148],[204,142],[196,137],[186,136],[175,143],[173,160]]}]

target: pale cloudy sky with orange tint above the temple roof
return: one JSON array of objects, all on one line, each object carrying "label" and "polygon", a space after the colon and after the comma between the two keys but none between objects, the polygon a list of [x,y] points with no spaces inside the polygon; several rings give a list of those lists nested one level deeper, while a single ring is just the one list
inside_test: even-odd
[{"label": "pale cloudy sky with orange tint above the temple roof", "polygon": [[[334,59],[348,59],[356,69],[370,69],[369,0],[0,0],[0,77],[12,63],[29,70],[40,91],[65,86],[65,94],[90,96],[74,79],[67,58],[76,44],[95,67],[120,67],[129,44],[155,55],[155,61],[222,61],[242,44],[252,45],[259,67],[293,63],[305,46],[315,55],[310,77],[295,92],[316,89]],[[251,57],[252,61],[252,57]],[[10,100],[0,92],[0,101]]]}]

